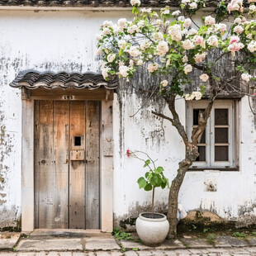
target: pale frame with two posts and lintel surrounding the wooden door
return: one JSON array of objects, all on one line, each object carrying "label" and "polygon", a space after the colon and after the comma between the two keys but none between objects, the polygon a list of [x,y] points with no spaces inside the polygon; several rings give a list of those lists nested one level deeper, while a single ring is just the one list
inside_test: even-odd
[{"label": "pale frame with two posts and lintel surrounding the wooden door", "polygon": [[[47,90],[47,89],[46,89]],[[36,91],[36,90],[35,90]],[[53,91],[50,92],[52,97]],[[97,90],[94,90],[97,91]],[[82,90],[69,92],[69,96],[78,93],[79,100],[101,101],[101,135],[100,135],[100,216],[101,231],[111,232],[113,228],[113,127],[112,127],[112,105],[113,91],[105,90],[106,97],[102,94],[95,95]],[[102,93],[102,90],[101,90]],[[67,94],[63,90],[63,99]],[[84,97],[82,97],[84,95]],[[69,98],[69,97],[68,97]],[[22,90],[22,141],[21,141],[21,231],[31,232],[35,229],[35,164],[34,164],[34,99],[45,99],[45,95],[33,97],[31,93]],[[51,100],[59,100],[59,95]],[[73,100],[76,100],[73,97]]]}]

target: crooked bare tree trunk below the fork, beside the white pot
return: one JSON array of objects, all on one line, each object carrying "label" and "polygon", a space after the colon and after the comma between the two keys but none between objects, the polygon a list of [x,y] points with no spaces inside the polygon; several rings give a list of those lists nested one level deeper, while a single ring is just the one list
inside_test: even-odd
[{"label": "crooked bare tree trunk below the fork, beside the white pot", "polygon": [[177,236],[177,211],[178,211],[178,192],[183,184],[183,179],[187,173],[187,169],[192,165],[192,162],[197,159],[198,149],[192,147],[187,149],[187,158],[179,163],[178,173],[173,179],[168,197],[168,214],[167,219],[170,224],[168,238]]}]

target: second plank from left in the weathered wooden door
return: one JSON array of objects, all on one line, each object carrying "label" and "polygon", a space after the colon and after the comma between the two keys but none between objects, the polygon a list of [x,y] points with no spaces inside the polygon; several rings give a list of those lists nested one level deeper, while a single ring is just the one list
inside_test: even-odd
[{"label": "second plank from left in the weathered wooden door", "polygon": [[53,228],[69,228],[69,102],[54,102]]}]

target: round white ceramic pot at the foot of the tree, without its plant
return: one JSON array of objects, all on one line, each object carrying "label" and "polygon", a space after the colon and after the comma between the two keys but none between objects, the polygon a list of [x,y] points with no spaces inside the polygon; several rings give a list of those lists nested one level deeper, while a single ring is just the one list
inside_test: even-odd
[{"label": "round white ceramic pot at the foot of the tree, without its plant", "polygon": [[164,243],[168,235],[169,223],[166,216],[161,213],[141,213],[136,220],[136,230],[143,244],[156,247]]}]

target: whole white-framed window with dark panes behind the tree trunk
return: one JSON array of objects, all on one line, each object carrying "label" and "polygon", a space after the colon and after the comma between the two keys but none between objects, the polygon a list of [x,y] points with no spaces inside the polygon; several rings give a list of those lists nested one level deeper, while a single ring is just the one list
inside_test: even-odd
[{"label": "whole white-framed window with dark panes behind the tree trunk", "polygon": [[[187,135],[200,121],[206,102],[187,102]],[[238,107],[235,101],[216,101],[206,130],[198,138],[199,157],[192,168],[225,168],[234,170],[238,163]]]}]

